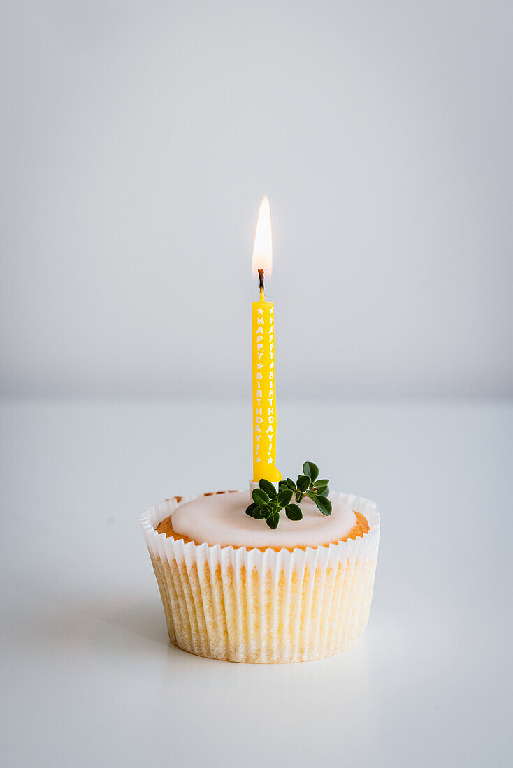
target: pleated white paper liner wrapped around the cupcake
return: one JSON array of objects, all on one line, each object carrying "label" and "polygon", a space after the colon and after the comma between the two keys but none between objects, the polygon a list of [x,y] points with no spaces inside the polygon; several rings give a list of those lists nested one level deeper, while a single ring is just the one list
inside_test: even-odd
[{"label": "pleated white paper liner wrapped around the cupcake", "polygon": [[334,494],[367,518],[370,530],[306,549],[185,544],[155,530],[178,503],[141,516],[169,638],[198,656],[277,664],[338,654],[367,627],[379,543],[375,503]]}]

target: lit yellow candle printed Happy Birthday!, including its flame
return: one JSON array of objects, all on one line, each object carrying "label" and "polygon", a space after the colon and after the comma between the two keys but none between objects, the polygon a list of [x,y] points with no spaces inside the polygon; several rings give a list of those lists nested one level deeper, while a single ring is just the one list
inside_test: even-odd
[{"label": "lit yellow candle printed Happy Birthday!, including its flame", "polygon": [[271,276],[271,269],[271,206],[264,197],[253,248],[253,274],[260,283],[260,300],[252,303],[253,482],[281,480],[276,468],[275,305],[264,294],[264,277]]}]

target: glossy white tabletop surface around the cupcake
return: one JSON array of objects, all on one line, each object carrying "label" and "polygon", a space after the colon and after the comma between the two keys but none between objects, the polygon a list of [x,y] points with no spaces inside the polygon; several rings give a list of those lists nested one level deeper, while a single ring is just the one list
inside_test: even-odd
[{"label": "glossy white tabletop surface around the cupcake", "polygon": [[282,470],[315,461],[382,528],[360,644],[276,666],[169,644],[138,524],[245,486],[249,402],[0,414],[2,766],[509,763],[511,405],[280,403]]}]

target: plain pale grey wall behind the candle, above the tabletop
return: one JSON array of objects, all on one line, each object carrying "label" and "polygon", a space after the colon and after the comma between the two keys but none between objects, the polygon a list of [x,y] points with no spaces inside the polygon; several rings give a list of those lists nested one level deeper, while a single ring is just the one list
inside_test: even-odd
[{"label": "plain pale grey wall behind the candle, above the tabletop", "polygon": [[2,2],[2,392],[511,394],[508,2]]}]

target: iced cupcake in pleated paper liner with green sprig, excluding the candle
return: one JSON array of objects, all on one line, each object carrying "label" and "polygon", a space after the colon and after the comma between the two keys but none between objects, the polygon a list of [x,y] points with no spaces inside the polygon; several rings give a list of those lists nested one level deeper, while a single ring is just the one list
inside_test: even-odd
[{"label": "iced cupcake in pleated paper liner with green sprig, excluding the candle", "polygon": [[[359,640],[371,607],[378,511],[327,485],[320,501],[315,491],[313,483],[301,493],[289,480],[272,489],[261,481],[250,492],[175,496],[145,511],[173,644],[213,659],[279,664],[338,654]],[[278,496],[298,504],[280,508]]]}]

